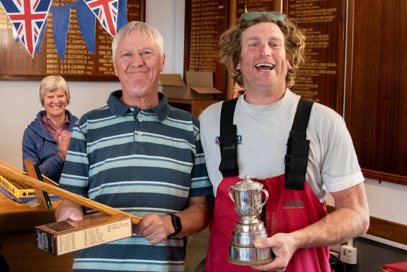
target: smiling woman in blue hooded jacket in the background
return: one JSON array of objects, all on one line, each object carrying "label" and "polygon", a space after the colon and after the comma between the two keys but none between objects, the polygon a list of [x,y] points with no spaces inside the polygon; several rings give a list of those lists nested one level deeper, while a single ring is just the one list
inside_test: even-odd
[{"label": "smiling woman in blue hooded jacket in the background", "polygon": [[[22,158],[39,164],[41,173],[59,183],[72,130],[78,118],[66,106],[70,101],[67,82],[62,76],[41,81],[40,102],[45,110],[24,131]],[[23,163],[24,171],[25,165]]]}]

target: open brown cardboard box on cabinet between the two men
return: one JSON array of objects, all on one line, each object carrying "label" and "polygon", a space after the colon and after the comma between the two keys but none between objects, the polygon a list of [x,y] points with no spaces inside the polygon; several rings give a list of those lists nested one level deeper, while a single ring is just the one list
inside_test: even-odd
[{"label": "open brown cardboard box on cabinet between the two men", "polygon": [[211,100],[214,94],[222,94],[213,86],[212,72],[187,71],[187,85],[180,74],[161,74],[159,91],[168,98]]}]

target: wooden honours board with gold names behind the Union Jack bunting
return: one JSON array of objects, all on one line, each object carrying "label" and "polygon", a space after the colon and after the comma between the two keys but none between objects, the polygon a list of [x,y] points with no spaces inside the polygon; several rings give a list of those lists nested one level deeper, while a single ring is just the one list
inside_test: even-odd
[{"label": "wooden honours board with gold names behind the Union Jack bunting", "polygon": [[[52,7],[78,0],[53,0]],[[145,0],[127,1],[128,21],[144,21]],[[59,74],[66,80],[117,81],[111,59],[112,37],[96,19],[95,49],[93,55],[86,47],[79,30],[76,10],[71,9],[65,59],[57,54],[52,31],[52,16],[48,13],[47,25],[40,48],[34,58],[21,41],[13,39],[12,23],[0,6],[0,80],[33,80]]]}]

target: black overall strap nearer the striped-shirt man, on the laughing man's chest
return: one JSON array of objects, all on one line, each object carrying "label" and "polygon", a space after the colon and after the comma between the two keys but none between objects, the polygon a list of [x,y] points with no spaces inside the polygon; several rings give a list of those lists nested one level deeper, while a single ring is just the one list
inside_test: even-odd
[{"label": "black overall strap nearer the striped-shirt man, on the laughing man's chest", "polygon": [[233,124],[233,115],[238,99],[224,101],[220,113],[220,165],[222,176],[239,175],[238,166],[238,140],[236,125]]}]

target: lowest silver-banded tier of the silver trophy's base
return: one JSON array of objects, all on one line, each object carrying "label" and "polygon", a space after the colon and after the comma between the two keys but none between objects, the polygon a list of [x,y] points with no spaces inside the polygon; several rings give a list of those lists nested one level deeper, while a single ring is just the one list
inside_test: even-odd
[{"label": "lowest silver-banded tier of the silver trophy's base", "polygon": [[253,246],[229,243],[229,256],[226,260],[237,265],[263,265],[272,262],[274,254],[270,248],[256,249]]}]

